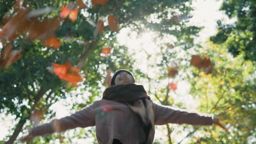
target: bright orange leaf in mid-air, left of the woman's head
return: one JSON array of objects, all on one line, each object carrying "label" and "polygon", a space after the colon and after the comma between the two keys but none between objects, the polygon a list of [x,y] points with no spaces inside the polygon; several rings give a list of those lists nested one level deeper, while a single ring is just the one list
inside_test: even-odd
[{"label": "bright orange leaf in mid-air, left of the woman's head", "polygon": [[82,76],[78,73],[80,69],[72,67],[70,62],[66,62],[64,65],[52,63],[54,66],[53,72],[59,76],[60,79],[68,81],[72,86],[77,86],[79,81],[82,81]]}]

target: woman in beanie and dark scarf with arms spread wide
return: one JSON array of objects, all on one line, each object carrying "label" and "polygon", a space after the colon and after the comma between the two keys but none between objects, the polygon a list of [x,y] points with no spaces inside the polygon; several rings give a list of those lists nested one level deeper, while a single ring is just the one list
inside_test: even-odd
[{"label": "woman in beanie and dark scarf with arms spread wide", "polygon": [[32,136],[61,132],[77,127],[96,126],[98,143],[153,143],[154,125],[167,123],[212,125],[218,118],[200,116],[197,113],[173,110],[153,103],[142,85],[136,85],[127,70],[118,70],[111,85],[103,92],[103,98],[71,116],[54,119],[50,123],[32,128],[21,141]]}]

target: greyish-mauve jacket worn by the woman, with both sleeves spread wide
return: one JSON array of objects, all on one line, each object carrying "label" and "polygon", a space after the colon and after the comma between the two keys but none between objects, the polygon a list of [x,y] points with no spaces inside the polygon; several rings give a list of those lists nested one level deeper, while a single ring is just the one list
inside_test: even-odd
[{"label": "greyish-mauve jacket worn by the woman, with both sleeves spread wide", "polygon": [[[211,117],[173,110],[170,107],[157,105],[152,100],[150,103],[153,107],[154,125],[167,123],[212,125]],[[124,144],[137,144],[140,139],[139,116],[127,104],[104,99],[95,101],[71,116],[54,119],[50,123],[32,128],[30,134],[39,136],[90,126],[96,126],[97,141],[100,144],[112,144],[113,139],[118,139]],[[154,139],[154,136],[151,138]]]}]

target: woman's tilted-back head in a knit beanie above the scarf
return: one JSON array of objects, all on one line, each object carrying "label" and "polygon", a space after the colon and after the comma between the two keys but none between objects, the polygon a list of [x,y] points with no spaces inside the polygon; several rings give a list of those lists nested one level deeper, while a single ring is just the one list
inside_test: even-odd
[{"label": "woman's tilted-back head in a knit beanie above the scarf", "polygon": [[133,75],[130,73],[130,71],[125,69],[115,71],[115,74],[111,79],[111,86],[120,85],[124,83],[135,83]]}]

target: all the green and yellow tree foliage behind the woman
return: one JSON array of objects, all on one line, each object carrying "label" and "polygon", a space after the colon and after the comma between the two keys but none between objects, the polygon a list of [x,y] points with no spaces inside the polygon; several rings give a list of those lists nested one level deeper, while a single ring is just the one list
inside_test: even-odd
[{"label": "all the green and yellow tree foliage behind the woman", "polygon": [[[31,9],[44,7],[56,8],[52,13],[40,18],[47,19],[59,15],[62,5],[69,1],[25,1]],[[15,1],[0,2],[0,20],[10,10]],[[56,32],[56,37],[62,41],[59,49],[53,50],[42,45],[39,40],[24,39],[21,35],[14,40],[14,49],[22,50],[22,57],[7,69],[0,70],[0,111],[16,116],[15,121],[26,122],[23,129],[33,127],[28,121],[34,110],[45,110],[42,121],[48,121],[55,116],[49,107],[67,97],[74,99],[84,92],[90,93],[88,99],[75,102],[72,109],[80,110],[101,98],[103,82],[107,69],[113,71],[127,69],[133,71],[136,81],[147,81],[150,97],[162,105],[187,109],[186,105],[176,102],[174,96],[184,97],[168,89],[168,83],[174,81],[188,81],[189,94],[196,101],[200,101],[199,111],[213,113],[223,118],[223,123],[230,130],[230,135],[218,127],[191,127],[182,125],[173,133],[188,133],[190,143],[248,143],[250,137],[255,137],[255,2],[254,1],[224,1],[222,10],[229,17],[237,17],[237,22],[224,25],[218,21],[218,33],[211,37],[214,43],[210,47],[194,43],[195,36],[201,27],[188,26],[187,18],[193,10],[192,1],[119,1],[111,0],[104,7],[92,6],[86,1],[88,9],[79,12],[77,20],[72,22],[68,18],[63,20]],[[154,32],[154,43],[158,46],[155,53],[143,50],[147,56],[147,70],[135,68],[133,58],[135,53],[129,53],[124,45],[119,45],[115,32],[106,26],[107,16],[113,14],[119,19],[119,28],[129,27],[131,32],[138,34],[144,31]],[[104,31],[95,37],[95,27],[88,21],[97,23],[99,19],[105,22]],[[4,23],[1,23],[4,25]],[[67,38],[71,36],[72,38]],[[172,38],[168,43],[163,38]],[[89,42],[86,46],[84,42]],[[168,47],[170,43],[173,48]],[[94,45],[95,44],[95,45]],[[94,47],[95,46],[95,47]],[[92,49],[92,48],[93,49]],[[108,56],[102,56],[104,47],[112,49]],[[226,49],[236,56],[229,55]],[[212,73],[205,74],[199,69],[191,67],[191,51],[196,50],[200,55],[207,55],[214,62]],[[200,53],[199,53],[200,51]],[[63,64],[69,60],[76,65],[84,53],[89,52],[83,60],[82,74],[85,79],[78,88],[73,88],[46,67],[51,63]],[[136,51],[139,52],[139,51]],[[244,61],[248,59],[250,61]],[[177,67],[176,77],[168,77],[168,68]],[[153,75],[150,74],[153,71]],[[145,72],[146,71],[146,72]],[[81,92],[82,91],[82,92]],[[74,94],[74,92],[77,92]],[[165,125],[166,126],[166,125]],[[180,128],[181,128],[180,127]],[[172,129],[172,125],[168,125]],[[9,135],[12,135],[12,131]],[[161,130],[166,130],[162,128]],[[167,130],[168,131],[168,130]],[[184,132],[185,131],[185,132]],[[195,133],[199,131],[200,136]],[[18,131],[20,133],[20,131]],[[22,131],[24,132],[24,131]],[[72,134],[71,134],[72,133]],[[178,142],[175,135],[168,132],[168,141]],[[170,136],[171,135],[171,136]],[[173,136],[174,135],[174,136]],[[74,139],[94,137],[95,129],[75,129],[66,133],[36,137],[33,143],[73,143]],[[171,139],[172,138],[172,139]],[[8,137],[5,138],[8,140]],[[155,140],[162,143],[164,137]],[[15,141],[18,143],[18,141]],[[1,142],[0,142],[1,143]],[[165,141],[164,143],[167,143]]]}]

